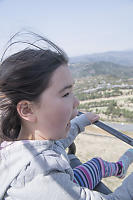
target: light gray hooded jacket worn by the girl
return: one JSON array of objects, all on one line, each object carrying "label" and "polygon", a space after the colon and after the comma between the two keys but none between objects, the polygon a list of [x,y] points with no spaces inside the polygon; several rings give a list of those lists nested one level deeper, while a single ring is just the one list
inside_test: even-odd
[{"label": "light gray hooded jacket worn by the girl", "polygon": [[25,140],[0,150],[0,200],[133,200],[133,174],[108,196],[73,183],[65,152],[89,125],[85,115],[71,122],[66,139]]}]

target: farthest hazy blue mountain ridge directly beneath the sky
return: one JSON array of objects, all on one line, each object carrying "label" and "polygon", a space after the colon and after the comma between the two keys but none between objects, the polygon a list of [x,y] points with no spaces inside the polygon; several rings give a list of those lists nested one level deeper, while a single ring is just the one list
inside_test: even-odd
[{"label": "farthest hazy blue mountain ridge directly beneath the sky", "polygon": [[105,53],[95,53],[70,58],[70,63],[94,63],[100,61],[112,62],[125,66],[133,66],[133,50],[110,51]]}]

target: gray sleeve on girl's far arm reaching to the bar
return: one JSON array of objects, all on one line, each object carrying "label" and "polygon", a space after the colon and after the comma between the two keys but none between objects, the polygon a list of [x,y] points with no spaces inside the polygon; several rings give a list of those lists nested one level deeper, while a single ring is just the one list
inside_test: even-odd
[{"label": "gray sleeve on girl's far arm reaching to the bar", "polygon": [[68,136],[65,139],[59,140],[63,144],[64,148],[66,149],[67,147],[69,147],[73,143],[76,136],[80,132],[83,132],[85,127],[90,124],[91,122],[88,120],[85,114],[82,114],[72,119]]}]

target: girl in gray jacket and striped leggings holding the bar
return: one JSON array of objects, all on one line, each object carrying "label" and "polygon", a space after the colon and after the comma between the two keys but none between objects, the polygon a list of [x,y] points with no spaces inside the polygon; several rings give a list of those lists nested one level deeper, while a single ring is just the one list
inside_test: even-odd
[{"label": "girl in gray jacket and striped leggings holding the bar", "polygon": [[[0,150],[0,199],[122,200],[124,195],[132,199],[129,183],[133,183],[133,174],[113,194],[105,196],[87,188],[90,170],[85,170],[90,162],[77,171],[71,169],[65,148],[98,117],[90,113],[76,117],[79,102],[72,92],[67,56],[51,41],[39,36],[38,40],[56,51],[33,43],[0,66],[1,137],[6,141]],[[107,167],[107,162],[95,159],[93,169],[98,171],[98,180],[110,169],[123,175],[133,161],[132,154],[132,150],[127,151],[120,162]],[[123,188],[128,194],[121,195]]]}]

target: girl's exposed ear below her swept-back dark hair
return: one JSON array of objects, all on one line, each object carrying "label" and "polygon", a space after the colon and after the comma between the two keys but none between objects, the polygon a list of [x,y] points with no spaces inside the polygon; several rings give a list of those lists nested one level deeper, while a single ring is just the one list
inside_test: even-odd
[{"label": "girl's exposed ear below her swept-back dark hair", "polygon": [[17,104],[18,114],[22,119],[29,122],[35,122],[36,116],[34,113],[33,105],[30,101],[23,100]]}]

